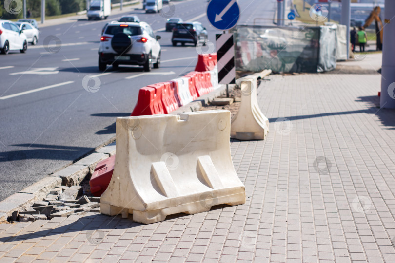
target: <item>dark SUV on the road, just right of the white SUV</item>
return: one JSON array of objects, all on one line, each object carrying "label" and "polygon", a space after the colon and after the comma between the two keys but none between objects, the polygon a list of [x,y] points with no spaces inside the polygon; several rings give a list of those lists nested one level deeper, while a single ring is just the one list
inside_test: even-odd
[{"label": "dark SUV on the road, just right of the white SUV", "polygon": [[196,46],[198,41],[205,39],[207,39],[207,30],[200,22],[178,23],[173,28],[173,46],[177,43],[183,46],[185,43],[191,43]]}]

